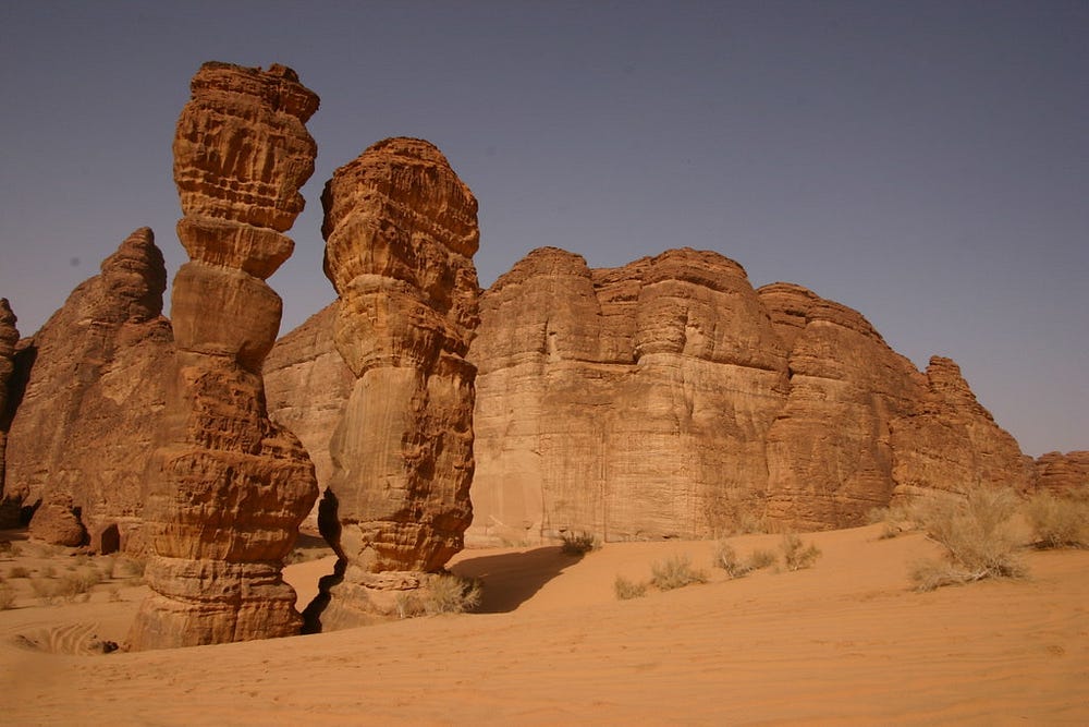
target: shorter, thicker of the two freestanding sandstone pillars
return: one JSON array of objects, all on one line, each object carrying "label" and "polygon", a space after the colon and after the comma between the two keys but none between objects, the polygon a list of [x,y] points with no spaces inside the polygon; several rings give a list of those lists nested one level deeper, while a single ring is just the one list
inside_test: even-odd
[{"label": "shorter, thicker of the two freestanding sandstone pillars", "polygon": [[[353,622],[462,547],[472,519],[477,203],[431,144],[392,138],[322,194],[333,338],[355,377],[318,522],[340,556],[310,610]],[[337,580],[339,583],[329,581]]]}]

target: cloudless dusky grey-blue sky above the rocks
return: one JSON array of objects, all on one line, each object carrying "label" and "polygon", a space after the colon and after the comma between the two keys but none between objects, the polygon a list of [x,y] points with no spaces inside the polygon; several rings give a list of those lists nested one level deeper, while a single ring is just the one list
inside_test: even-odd
[{"label": "cloudless dusky grey-blue sky above the rocks", "polygon": [[480,202],[485,286],[540,245],[714,250],[952,356],[1027,453],[1087,449],[1087,38],[1084,0],[5,0],[0,296],[29,335],[144,225],[173,275],[188,80],[279,62],[321,96],[282,331],[333,299],[333,169],[421,136]]}]

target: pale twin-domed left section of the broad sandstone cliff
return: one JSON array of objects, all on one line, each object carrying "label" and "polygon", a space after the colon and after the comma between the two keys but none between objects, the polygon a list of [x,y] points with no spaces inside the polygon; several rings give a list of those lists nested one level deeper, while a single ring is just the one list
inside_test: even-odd
[{"label": "pale twin-domed left section of the broad sandstone cliff", "polygon": [[538,250],[479,334],[475,538],[698,537],[762,509],[786,349],[737,264]]}]

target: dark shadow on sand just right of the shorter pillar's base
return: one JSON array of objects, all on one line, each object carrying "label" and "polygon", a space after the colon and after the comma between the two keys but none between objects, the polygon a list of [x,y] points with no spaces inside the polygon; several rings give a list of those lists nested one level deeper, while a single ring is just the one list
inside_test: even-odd
[{"label": "dark shadow on sand just right of the shorter pillar's base", "polygon": [[466,558],[450,570],[484,581],[484,594],[476,613],[506,614],[529,601],[546,583],[579,560],[582,556],[563,553],[560,546],[553,545]]}]

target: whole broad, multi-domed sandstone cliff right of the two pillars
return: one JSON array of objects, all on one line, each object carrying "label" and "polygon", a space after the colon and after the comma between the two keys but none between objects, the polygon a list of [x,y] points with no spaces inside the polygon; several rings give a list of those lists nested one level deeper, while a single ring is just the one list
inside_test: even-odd
[{"label": "whole broad, multi-domed sandstone cliff right of the two pillars", "polygon": [[536,250],[480,318],[474,544],[849,526],[914,493],[1033,480],[952,361],[920,373],[858,312],[755,291],[717,253],[595,270]]}]

